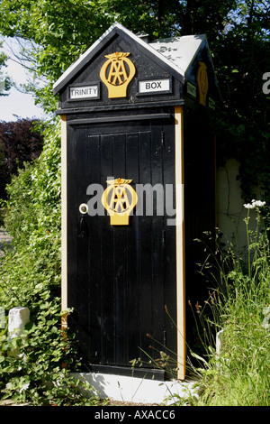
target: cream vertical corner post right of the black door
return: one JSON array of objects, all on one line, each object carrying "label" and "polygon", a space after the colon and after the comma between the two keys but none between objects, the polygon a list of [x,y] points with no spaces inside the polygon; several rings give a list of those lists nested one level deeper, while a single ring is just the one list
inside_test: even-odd
[{"label": "cream vertical corner post right of the black door", "polygon": [[176,300],[177,300],[177,377],[185,377],[185,300],[184,300],[184,110],[175,106],[175,207],[176,207]]}]

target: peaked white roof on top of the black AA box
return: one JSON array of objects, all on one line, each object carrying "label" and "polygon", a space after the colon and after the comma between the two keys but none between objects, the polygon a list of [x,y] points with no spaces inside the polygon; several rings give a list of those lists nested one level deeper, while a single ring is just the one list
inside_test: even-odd
[{"label": "peaked white roof on top of the black AA box", "polygon": [[130,32],[121,25],[121,23],[113,23],[112,26],[103,33],[103,35],[85,51],[53,85],[53,94],[58,94],[61,88],[64,88],[69,79],[73,78],[84,66],[89,62],[94,54],[102,47],[103,43],[109,41],[115,33],[124,33],[133,41],[137,42],[143,49],[154,54],[158,60],[163,61],[170,69],[182,79],[184,78],[189,66],[197,51],[199,51],[202,42],[206,41],[204,34],[202,35],[185,35],[183,37],[160,39],[150,43],[143,41],[140,37]]}]

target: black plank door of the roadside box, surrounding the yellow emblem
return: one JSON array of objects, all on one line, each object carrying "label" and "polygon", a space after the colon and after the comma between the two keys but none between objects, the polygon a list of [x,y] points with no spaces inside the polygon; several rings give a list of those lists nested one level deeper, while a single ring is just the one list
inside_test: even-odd
[{"label": "black plank door of the roadside box, surrounding the yellow emblem", "polygon": [[148,346],[159,347],[147,335],[169,340],[176,352],[176,330],[165,312],[166,304],[175,318],[175,227],[167,228],[157,207],[153,216],[135,213],[129,226],[111,226],[107,214],[86,214],[83,237],[78,211],[90,198],[87,187],[105,189],[108,177],[132,180],[134,188],[173,185],[174,128],[170,115],[124,126],[68,125],[68,306],[74,308],[70,327],[89,364],[130,367],[139,357],[148,362],[147,355],[158,356]]}]

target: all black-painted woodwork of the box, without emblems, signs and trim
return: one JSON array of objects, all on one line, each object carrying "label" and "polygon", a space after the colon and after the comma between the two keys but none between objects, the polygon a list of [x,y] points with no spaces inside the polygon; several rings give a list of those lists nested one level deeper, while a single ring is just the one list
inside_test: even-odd
[{"label": "all black-painted woodwork of the box, without emblems, signs and trim", "polygon": [[[127,97],[109,98],[100,69],[106,56],[116,51],[130,52],[136,74]],[[183,78],[146,44],[115,27],[84,56],[79,67],[62,78],[55,91],[59,95],[57,114],[67,115],[67,304],[74,308],[69,327],[76,332],[80,354],[91,370],[117,373],[118,367],[119,373],[130,372],[130,361],[139,357],[151,368],[146,363],[149,356],[158,358],[159,344],[166,345],[176,360],[172,210],[158,215],[154,201],[148,216],[145,203],[150,194],[141,192],[144,208],[138,202],[129,226],[111,226],[107,213],[82,216],[79,212],[81,203],[94,198],[89,187],[100,184],[106,189],[108,177],[132,180],[134,188],[150,185],[157,189],[155,200],[160,186],[164,199],[169,189],[175,195],[175,143],[184,143],[185,301],[203,302],[207,297],[207,282],[196,265],[203,262],[204,253],[194,239],[215,225],[214,145],[209,109],[199,105],[186,86],[189,81],[196,89],[199,60],[206,63],[209,96],[216,99],[206,41]],[[142,78],[170,78],[171,89],[142,95],[138,88]],[[88,84],[98,86],[98,96],[69,98],[70,87]],[[180,105],[184,108],[184,142],[175,140],[174,106]],[[99,191],[98,204],[101,196]],[[169,206],[175,208],[175,196]],[[193,317],[188,313],[185,317],[190,344]]]}]

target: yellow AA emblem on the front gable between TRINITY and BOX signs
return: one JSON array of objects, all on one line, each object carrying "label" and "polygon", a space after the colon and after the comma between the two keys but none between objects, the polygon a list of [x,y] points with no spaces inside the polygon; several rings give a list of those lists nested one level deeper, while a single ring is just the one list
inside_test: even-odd
[{"label": "yellow AA emblem on the front gable between TRINITY and BOX signs", "polygon": [[129,55],[116,51],[105,56],[108,60],[100,70],[100,78],[108,88],[109,98],[127,96],[128,85],[136,72],[133,62],[128,59]]}]

